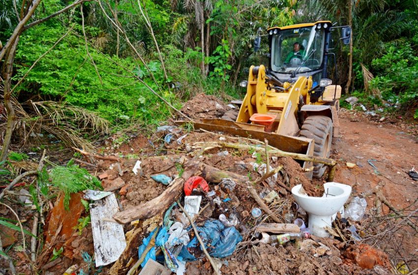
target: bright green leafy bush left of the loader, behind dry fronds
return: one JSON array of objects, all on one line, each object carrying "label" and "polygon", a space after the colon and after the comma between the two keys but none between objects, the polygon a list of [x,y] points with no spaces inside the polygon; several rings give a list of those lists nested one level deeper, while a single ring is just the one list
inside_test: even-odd
[{"label": "bright green leafy bush left of the loader, behind dry fronds", "polygon": [[[89,29],[91,33],[95,33],[94,28]],[[16,66],[18,70],[14,79],[20,79],[28,71],[30,64],[65,32],[65,27],[60,24],[39,25],[27,30],[19,43],[16,55],[19,60]],[[89,52],[98,74],[87,56],[84,39],[73,33],[67,35],[49,54],[39,60],[15,92],[63,100],[87,110],[94,110],[114,123],[124,124],[130,119],[138,118],[144,123],[156,124],[166,119],[169,114],[166,106],[132,75],[135,73],[158,91],[157,84],[150,78],[144,66],[138,66],[138,61],[133,58],[104,55],[90,46]],[[150,61],[148,66],[157,81],[162,83],[160,63]],[[163,92],[163,96],[169,101],[174,99],[174,94],[168,90]]]}]

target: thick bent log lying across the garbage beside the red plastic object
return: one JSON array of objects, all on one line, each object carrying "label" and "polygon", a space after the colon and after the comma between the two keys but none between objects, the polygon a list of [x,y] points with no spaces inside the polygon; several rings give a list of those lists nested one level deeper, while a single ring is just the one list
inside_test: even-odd
[{"label": "thick bent log lying across the garbage beside the red plastic object", "polygon": [[132,220],[147,219],[165,211],[181,195],[184,182],[194,174],[200,174],[208,182],[214,183],[221,182],[223,178],[230,178],[238,183],[243,183],[248,180],[245,176],[233,172],[222,171],[201,162],[190,162],[189,164],[186,164],[185,167],[187,170],[184,171],[181,178],[176,179],[159,196],[146,203],[121,211],[115,214],[113,218],[119,223],[128,223]]}]

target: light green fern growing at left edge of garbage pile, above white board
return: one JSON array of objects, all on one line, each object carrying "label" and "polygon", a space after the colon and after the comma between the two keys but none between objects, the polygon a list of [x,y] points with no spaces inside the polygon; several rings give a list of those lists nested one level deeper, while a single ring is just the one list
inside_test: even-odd
[{"label": "light green fern growing at left edge of garbage pile, above white board", "polygon": [[100,181],[78,165],[57,166],[49,173],[51,184],[64,192],[64,207],[69,209],[70,194],[86,189],[102,189]]}]

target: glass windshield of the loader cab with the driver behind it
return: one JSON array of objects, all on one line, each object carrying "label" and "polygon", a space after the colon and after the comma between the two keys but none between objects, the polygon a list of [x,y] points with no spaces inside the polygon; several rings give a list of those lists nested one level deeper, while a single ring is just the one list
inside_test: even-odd
[{"label": "glass windshield of the loader cab with the driver behind it", "polygon": [[271,69],[280,73],[307,72],[321,67],[324,28],[299,27],[279,30],[272,37]]}]

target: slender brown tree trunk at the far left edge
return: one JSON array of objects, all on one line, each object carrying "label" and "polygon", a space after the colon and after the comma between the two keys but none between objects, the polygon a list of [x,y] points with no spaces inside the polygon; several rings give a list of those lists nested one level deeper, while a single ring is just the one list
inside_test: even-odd
[{"label": "slender brown tree trunk at the far left edge", "polygon": [[4,135],[3,149],[1,150],[0,162],[7,159],[9,151],[10,140],[12,138],[13,128],[15,125],[16,114],[13,109],[13,105],[10,102],[11,98],[11,82],[13,74],[13,61],[16,55],[16,47],[19,43],[19,36],[16,37],[15,41],[10,47],[10,50],[6,52],[4,63],[2,66],[3,83],[4,83],[4,107],[7,110],[7,126],[6,134]]}]

